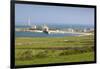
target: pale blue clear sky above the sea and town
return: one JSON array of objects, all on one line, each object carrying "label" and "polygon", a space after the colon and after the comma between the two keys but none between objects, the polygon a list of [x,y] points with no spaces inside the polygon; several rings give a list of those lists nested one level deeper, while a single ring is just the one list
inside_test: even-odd
[{"label": "pale blue clear sky above the sea and town", "polygon": [[15,24],[94,25],[94,8],[16,4]]}]

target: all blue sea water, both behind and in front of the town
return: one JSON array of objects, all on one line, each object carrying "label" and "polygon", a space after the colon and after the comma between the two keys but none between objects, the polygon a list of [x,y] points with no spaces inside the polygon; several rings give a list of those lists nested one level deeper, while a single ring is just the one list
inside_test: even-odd
[{"label": "all blue sea water, both behind and in front of the town", "polygon": [[[37,25],[38,27],[41,27],[41,25]],[[93,28],[93,25],[71,25],[71,24],[52,24],[47,25],[51,29],[59,29],[59,30],[65,30],[68,28],[72,29],[84,29],[84,28]],[[16,28],[30,28],[30,26],[24,26],[24,25],[16,25]],[[78,36],[80,34],[74,34],[74,33],[39,33],[39,32],[18,32],[15,31],[15,37],[64,37],[64,36]]]}]

